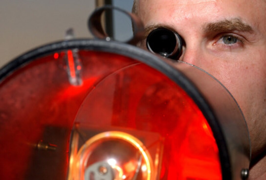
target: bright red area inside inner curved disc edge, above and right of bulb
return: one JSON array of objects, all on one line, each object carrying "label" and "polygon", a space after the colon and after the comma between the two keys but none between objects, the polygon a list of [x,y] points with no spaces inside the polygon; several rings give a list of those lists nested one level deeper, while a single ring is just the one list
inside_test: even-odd
[{"label": "bright red area inside inner curved disc edge, above and right of bulb", "polygon": [[[222,179],[218,147],[201,110],[183,89],[146,65],[102,80],[84,100],[77,120],[93,129],[115,127],[159,135],[161,179]],[[140,138],[149,152],[156,151],[154,134]]]}]

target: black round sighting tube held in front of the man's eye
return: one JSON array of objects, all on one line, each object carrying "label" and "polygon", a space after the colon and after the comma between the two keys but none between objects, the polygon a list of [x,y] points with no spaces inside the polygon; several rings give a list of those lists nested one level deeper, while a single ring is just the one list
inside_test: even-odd
[{"label": "black round sighting tube held in front of the man's eye", "polygon": [[168,58],[178,58],[182,51],[181,37],[165,28],[158,28],[149,33],[146,41],[148,50]]}]

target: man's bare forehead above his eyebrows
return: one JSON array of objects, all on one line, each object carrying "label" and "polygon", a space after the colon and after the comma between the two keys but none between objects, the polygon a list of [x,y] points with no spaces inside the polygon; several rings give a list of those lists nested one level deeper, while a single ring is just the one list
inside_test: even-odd
[{"label": "man's bare forehead above his eyebrows", "polygon": [[[182,21],[215,22],[240,18],[257,27],[265,22],[265,0],[140,0],[139,16],[145,25]],[[265,24],[265,23],[264,23]]]}]

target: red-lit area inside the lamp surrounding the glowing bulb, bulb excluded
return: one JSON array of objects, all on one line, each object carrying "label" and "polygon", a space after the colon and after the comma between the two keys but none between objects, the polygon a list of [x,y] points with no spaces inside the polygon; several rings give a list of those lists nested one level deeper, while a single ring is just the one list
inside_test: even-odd
[{"label": "red-lit area inside the lamp surrounding the glowing bulb, bulb excluded", "polygon": [[[33,146],[53,129],[60,133],[51,134],[48,142],[60,148],[52,152],[56,158],[47,161],[49,164],[40,164],[43,170],[40,172],[49,174],[48,179],[66,179],[69,135],[78,110],[77,119],[94,126],[94,130],[111,127],[160,136],[163,139],[158,169],[161,179],[222,179],[213,133],[184,90],[146,65],[124,68],[136,63],[130,58],[85,50],[78,53],[83,60],[82,86],[69,85],[65,70],[58,68],[60,61],[54,61],[58,53],[30,63],[1,83],[0,109],[4,113],[0,137],[5,147],[0,149],[0,154],[4,154],[1,162],[5,165],[1,167],[1,179],[20,179],[34,172],[43,176],[38,172],[40,163],[32,163],[36,155]],[[71,50],[67,56],[70,73],[75,76]],[[61,57],[64,53],[60,53]],[[117,70],[121,73],[105,78]],[[152,152],[153,144],[147,144],[146,136],[141,138]],[[47,157],[49,152],[44,153],[43,158]]]}]

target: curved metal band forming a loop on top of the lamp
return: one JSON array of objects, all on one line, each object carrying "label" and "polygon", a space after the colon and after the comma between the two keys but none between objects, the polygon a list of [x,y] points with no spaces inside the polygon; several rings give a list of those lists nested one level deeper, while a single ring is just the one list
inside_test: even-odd
[{"label": "curved metal band forming a loop on top of the lamp", "polygon": [[105,33],[101,25],[101,15],[106,10],[117,10],[131,18],[132,28],[133,28],[133,37],[131,39],[128,39],[125,43],[135,45],[143,38],[144,26],[143,26],[142,21],[135,14],[129,13],[123,9],[120,9],[118,7],[114,7],[111,5],[100,7],[96,9],[92,13],[92,15],[90,15],[88,19],[88,28],[89,28],[89,31],[94,35],[94,37],[99,38],[99,39],[110,38],[109,35]]}]

